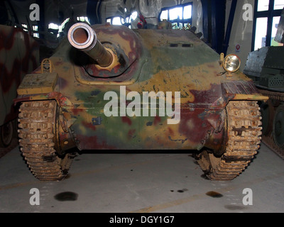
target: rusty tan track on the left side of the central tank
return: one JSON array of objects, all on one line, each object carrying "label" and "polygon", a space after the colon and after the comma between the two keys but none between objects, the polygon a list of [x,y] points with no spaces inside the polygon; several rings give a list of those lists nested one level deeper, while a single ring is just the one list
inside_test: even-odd
[{"label": "rusty tan track on the left side of the central tank", "polygon": [[21,104],[18,136],[23,157],[36,178],[64,179],[72,163],[69,154],[60,157],[54,143],[56,101],[30,101]]}]

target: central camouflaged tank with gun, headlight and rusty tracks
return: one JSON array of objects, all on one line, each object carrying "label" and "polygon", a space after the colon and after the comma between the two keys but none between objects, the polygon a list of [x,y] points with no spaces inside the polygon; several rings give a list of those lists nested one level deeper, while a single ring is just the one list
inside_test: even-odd
[{"label": "central camouflaged tank with gun, headlight and rusty tracks", "polygon": [[[18,89],[19,140],[40,180],[79,150],[198,150],[207,177],[237,177],[261,143],[258,93],[239,57],[191,31],[77,23]],[[72,149],[71,149],[72,150]]]}]

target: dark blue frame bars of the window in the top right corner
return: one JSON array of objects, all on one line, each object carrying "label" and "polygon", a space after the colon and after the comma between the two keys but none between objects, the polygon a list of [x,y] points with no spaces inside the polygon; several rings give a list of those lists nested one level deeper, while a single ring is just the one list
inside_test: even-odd
[{"label": "dark blue frame bars of the window in the top right corner", "polygon": [[274,9],[275,0],[269,0],[268,11],[258,11],[258,1],[254,3],[254,15],[253,15],[253,37],[251,42],[251,51],[254,51],[256,43],[256,20],[257,18],[268,18],[267,20],[267,32],[266,32],[266,47],[271,46],[273,18],[275,16],[281,16],[283,9]]}]

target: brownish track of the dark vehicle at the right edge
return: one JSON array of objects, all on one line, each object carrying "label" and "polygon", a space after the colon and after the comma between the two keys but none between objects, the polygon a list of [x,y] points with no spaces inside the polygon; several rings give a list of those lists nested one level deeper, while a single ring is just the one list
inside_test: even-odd
[{"label": "brownish track of the dark vehicle at the right edge", "polygon": [[[258,89],[261,94],[268,96],[269,99],[275,100],[275,101],[283,101],[284,102],[284,93],[280,92],[271,92],[268,90]],[[273,150],[274,153],[279,155],[281,158],[284,159],[284,150],[279,148],[278,145],[274,143],[273,135],[272,133],[269,133],[269,135],[263,135],[262,142],[268,146],[271,150]]]}]

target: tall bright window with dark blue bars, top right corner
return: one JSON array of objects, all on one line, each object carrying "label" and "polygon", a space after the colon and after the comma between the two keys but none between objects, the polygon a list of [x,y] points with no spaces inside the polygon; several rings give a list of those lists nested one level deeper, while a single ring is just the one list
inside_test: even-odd
[{"label": "tall bright window with dark blue bars, top right corner", "polygon": [[283,45],[274,40],[283,8],[283,0],[256,0],[252,50],[271,45]]}]

